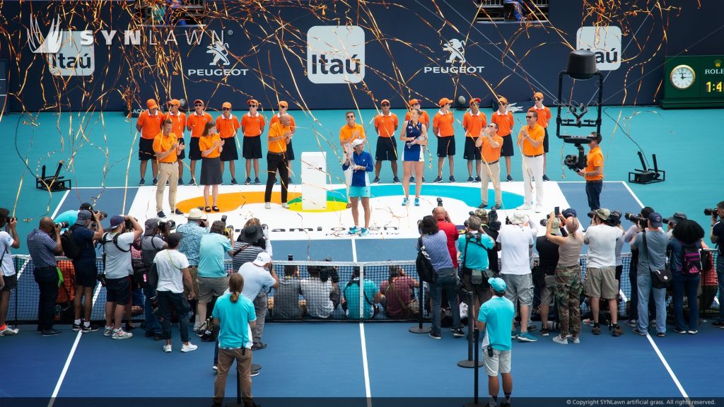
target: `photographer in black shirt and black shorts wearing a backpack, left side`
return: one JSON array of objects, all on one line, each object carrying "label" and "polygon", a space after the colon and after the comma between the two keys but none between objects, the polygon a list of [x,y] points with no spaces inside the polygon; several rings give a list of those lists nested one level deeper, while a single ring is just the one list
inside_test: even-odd
[{"label": "photographer in black shirt and black shorts wearing a backpack, left side", "polygon": [[[91,223],[91,219],[93,222]],[[97,211],[78,211],[75,225],[70,227],[75,246],[80,249],[80,257],[73,260],[75,269],[75,300],[73,308],[75,320],[73,330],[83,333],[96,332],[98,327],[90,325],[90,311],[93,310],[93,289],[98,282],[98,266],[96,265],[95,242],[101,240],[104,234],[101,226],[101,214]],[[85,298],[85,304],[82,303]],[[83,311],[83,325],[81,325],[81,311]]]}]

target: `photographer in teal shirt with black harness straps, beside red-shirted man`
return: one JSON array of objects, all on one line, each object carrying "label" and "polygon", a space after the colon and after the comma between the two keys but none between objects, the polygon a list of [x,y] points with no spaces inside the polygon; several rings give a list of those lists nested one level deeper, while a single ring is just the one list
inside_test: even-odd
[{"label": "photographer in teal shirt with black harness straps, beside red-shirted man", "polygon": [[[480,219],[471,216],[466,225],[467,232],[458,238],[458,256],[461,263],[463,287],[473,293],[472,314],[477,315],[480,304],[490,299],[488,279],[492,272],[488,265],[488,251],[494,248],[495,242],[481,229]],[[473,270],[481,274],[473,282]],[[478,273],[476,273],[478,274]]]}]

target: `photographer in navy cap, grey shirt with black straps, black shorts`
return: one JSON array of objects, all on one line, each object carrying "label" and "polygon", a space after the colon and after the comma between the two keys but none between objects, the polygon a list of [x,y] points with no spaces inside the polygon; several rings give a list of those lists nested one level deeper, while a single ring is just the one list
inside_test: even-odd
[{"label": "photographer in navy cap, grey shirt with black straps, black shorts", "polygon": [[[127,230],[130,225],[130,230]],[[121,329],[125,306],[130,301],[131,246],[140,238],[143,228],[135,217],[114,215],[111,217],[111,231],[101,238],[104,250],[104,274],[106,280],[106,327],[104,336],[112,339],[128,339],[130,332]]]}]

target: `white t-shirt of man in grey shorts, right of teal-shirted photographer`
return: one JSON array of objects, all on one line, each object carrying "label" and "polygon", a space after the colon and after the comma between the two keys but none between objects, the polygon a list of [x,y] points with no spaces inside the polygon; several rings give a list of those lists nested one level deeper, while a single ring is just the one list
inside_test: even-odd
[{"label": "white t-shirt of man in grey shorts, right of teal-shirted photographer", "polygon": [[531,272],[529,249],[533,245],[531,228],[523,225],[503,225],[497,237],[500,243],[500,274],[525,275]]}]

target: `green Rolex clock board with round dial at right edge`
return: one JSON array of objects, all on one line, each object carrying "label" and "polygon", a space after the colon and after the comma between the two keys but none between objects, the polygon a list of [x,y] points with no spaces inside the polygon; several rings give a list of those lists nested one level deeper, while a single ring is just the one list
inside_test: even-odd
[{"label": "green Rolex clock board with round dial at right edge", "polygon": [[664,109],[724,107],[724,55],[667,56]]}]

